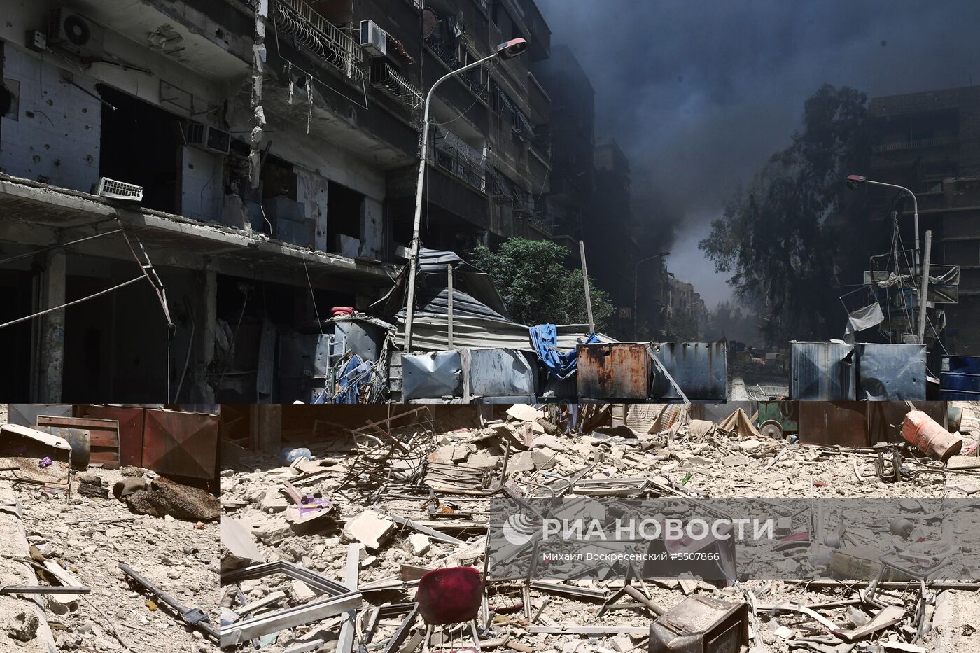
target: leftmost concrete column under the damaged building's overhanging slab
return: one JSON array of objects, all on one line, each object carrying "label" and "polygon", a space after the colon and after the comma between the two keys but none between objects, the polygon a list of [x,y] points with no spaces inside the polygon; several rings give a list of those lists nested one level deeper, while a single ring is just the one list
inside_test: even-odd
[{"label": "leftmost concrete column under the damaged building's overhanging slab", "polygon": [[[45,257],[41,273],[37,310],[65,303],[64,252],[52,252]],[[38,318],[37,397],[42,404],[62,402],[62,377],[65,374],[65,310],[53,311]]]}]

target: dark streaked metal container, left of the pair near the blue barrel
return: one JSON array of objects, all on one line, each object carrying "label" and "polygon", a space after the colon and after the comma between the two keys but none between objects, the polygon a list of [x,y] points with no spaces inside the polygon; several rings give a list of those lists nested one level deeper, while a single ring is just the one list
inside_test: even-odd
[{"label": "dark streaked metal container, left of the pair near the blue barrel", "polygon": [[801,401],[856,399],[855,349],[843,342],[790,342],[790,396]]}]

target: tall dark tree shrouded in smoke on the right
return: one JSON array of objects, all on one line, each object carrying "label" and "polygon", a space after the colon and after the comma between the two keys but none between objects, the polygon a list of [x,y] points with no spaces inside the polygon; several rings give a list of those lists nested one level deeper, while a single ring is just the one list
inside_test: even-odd
[{"label": "tall dark tree shrouded in smoke on the right", "polygon": [[[864,170],[870,152],[867,96],[820,86],[804,104],[804,126],[726,202],[698,246],[743,298],[756,299],[770,341],[839,334],[834,234],[826,218],[841,210],[844,178]],[[841,320],[837,320],[840,315]]]}]

